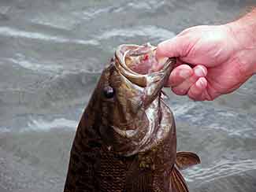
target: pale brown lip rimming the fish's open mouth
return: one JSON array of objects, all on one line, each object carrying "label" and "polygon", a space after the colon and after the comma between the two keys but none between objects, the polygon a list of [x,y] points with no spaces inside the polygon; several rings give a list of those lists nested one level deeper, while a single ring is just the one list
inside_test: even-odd
[{"label": "pale brown lip rimming the fish's open mouth", "polygon": [[[150,44],[149,44],[150,45]],[[128,54],[130,50],[126,50],[123,53],[121,53],[121,49],[124,46],[130,46],[130,47],[137,47],[139,48],[139,45],[135,44],[123,44],[117,47],[117,50],[115,52],[115,65],[116,68],[123,76],[125,76],[128,80],[132,81],[132,83],[135,83],[139,87],[147,87],[148,79],[150,79],[152,76],[167,76],[170,71],[173,69],[173,64],[176,63],[175,57],[169,57],[167,61],[165,61],[165,64],[158,72],[151,72],[148,74],[139,74],[137,72],[132,71],[132,69],[128,68],[128,66],[125,63],[125,56]],[[151,45],[150,45],[151,46]],[[156,50],[156,46],[151,46],[152,48],[149,49],[148,52],[152,50]],[[146,53],[145,53],[146,54]]]}]

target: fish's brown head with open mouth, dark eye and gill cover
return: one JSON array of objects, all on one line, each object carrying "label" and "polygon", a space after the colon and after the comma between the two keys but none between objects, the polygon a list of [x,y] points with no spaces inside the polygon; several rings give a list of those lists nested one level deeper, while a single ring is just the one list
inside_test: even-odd
[{"label": "fish's brown head with open mouth, dark eye and gill cover", "polygon": [[161,61],[162,68],[154,72],[152,66],[159,65],[155,50],[156,46],[150,44],[118,46],[99,80],[100,132],[117,153],[131,155],[138,152],[139,143],[148,135],[148,127],[159,121],[154,115],[154,120],[149,120],[146,111],[154,113],[158,110],[161,88],[169,79],[176,60],[166,58]]}]

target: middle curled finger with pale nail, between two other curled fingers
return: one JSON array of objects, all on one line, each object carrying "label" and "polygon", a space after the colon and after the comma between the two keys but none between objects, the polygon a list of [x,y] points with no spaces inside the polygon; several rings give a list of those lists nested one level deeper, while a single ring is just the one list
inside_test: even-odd
[{"label": "middle curled finger with pale nail, between two other curled fingers", "polygon": [[202,65],[197,65],[193,68],[193,75],[184,80],[183,83],[180,83],[176,87],[173,87],[172,90],[175,94],[184,95],[187,94],[189,88],[200,78],[205,77],[207,75],[206,67]]}]

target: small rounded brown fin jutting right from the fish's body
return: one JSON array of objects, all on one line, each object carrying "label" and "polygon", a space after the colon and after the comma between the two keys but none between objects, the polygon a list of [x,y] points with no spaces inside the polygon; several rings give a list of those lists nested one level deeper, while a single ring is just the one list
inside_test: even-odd
[{"label": "small rounded brown fin jutting right from the fish's body", "polygon": [[200,163],[200,158],[195,153],[188,151],[180,151],[176,153],[176,165],[180,169],[185,169]]}]

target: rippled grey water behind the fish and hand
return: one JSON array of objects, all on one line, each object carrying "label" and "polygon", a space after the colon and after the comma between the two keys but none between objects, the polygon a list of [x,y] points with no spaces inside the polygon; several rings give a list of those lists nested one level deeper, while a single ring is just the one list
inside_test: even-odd
[{"label": "rippled grey water behind the fish and hand", "polygon": [[[119,44],[157,44],[196,24],[224,24],[255,3],[2,0],[0,191],[62,190],[76,125]],[[214,102],[170,93],[178,150],[202,159],[184,171],[191,191],[256,191],[255,83]]]}]

